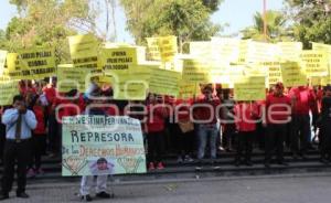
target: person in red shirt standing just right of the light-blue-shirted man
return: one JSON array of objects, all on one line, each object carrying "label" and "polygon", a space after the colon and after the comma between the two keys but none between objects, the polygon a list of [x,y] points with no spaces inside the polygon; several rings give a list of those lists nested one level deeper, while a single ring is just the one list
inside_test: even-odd
[{"label": "person in red shirt standing just right of the light-blue-shirted man", "polygon": [[42,174],[43,170],[41,168],[41,158],[45,152],[46,147],[46,128],[44,120],[44,107],[41,104],[41,100],[38,98],[33,105],[33,113],[36,118],[36,128],[33,130],[32,136],[32,157],[28,170],[28,177],[34,177],[35,174]]}]

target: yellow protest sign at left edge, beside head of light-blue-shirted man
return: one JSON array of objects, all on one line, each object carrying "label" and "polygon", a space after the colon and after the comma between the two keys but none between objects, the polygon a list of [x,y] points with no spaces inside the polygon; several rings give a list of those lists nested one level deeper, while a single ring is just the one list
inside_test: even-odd
[{"label": "yellow protest sign at left edge, beside head of light-blue-shirted man", "polygon": [[18,81],[0,79],[0,106],[11,105],[12,98],[20,93]]}]

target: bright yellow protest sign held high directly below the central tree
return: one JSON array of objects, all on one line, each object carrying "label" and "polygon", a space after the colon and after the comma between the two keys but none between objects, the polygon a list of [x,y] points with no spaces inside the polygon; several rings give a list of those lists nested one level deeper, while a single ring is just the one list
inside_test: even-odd
[{"label": "bright yellow protest sign held high directly below the central tree", "polygon": [[172,62],[174,55],[178,53],[177,36],[159,36],[147,38],[150,60],[159,60],[162,62]]}]

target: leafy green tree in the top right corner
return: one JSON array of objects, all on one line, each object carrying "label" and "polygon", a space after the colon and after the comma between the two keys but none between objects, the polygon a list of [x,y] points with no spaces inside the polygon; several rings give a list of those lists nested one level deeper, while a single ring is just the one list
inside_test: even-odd
[{"label": "leafy green tree in the top right corner", "polygon": [[286,0],[286,6],[293,35],[305,49],[310,42],[331,44],[331,0]]}]

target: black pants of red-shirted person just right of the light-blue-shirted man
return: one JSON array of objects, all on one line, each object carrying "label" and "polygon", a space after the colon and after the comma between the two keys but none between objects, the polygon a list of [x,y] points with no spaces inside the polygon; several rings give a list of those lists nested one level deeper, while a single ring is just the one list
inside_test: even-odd
[{"label": "black pants of red-shirted person just right of the light-blue-shirted man", "polygon": [[30,160],[30,169],[40,169],[41,168],[41,158],[45,151],[46,137],[45,135],[33,135],[32,137],[32,156]]}]

